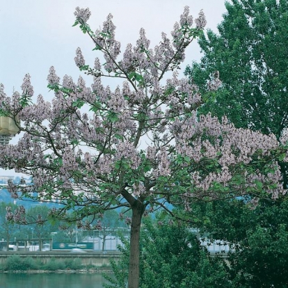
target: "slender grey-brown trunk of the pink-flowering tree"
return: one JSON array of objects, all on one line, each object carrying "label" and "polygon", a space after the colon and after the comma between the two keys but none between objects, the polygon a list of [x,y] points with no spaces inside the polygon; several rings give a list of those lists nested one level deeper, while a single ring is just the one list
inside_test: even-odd
[{"label": "slender grey-brown trunk of the pink-flowering tree", "polygon": [[128,288],[139,288],[140,277],[140,228],[141,219],[145,206],[140,201],[136,200],[132,206],[132,223],[130,232],[130,259],[128,273]]}]

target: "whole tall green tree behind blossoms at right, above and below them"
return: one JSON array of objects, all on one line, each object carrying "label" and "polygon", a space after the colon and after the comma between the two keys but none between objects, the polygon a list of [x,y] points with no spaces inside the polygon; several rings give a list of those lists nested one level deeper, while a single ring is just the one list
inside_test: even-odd
[{"label": "whole tall green tree behind blossoms at right, above and below them", "polygon": [[[225,5],[219,33],[201,35],[204,56],[186,68],[207,99],[198,112],[218,118],[225,114],[236,127],[273,133],[279,139],[288,113],[288,3],[233,0]],[[222,87],[210,93],[207,81],[214,71],[219,72]],[[280,162],[280,167],[287,187],[287,163]],[[234,277],[241,275],[241,285],[287,286],[287,197],[260,200],[252,210],[239,199],[192,209],[204,217],[211,237],[235,245],[230,263]]]}]

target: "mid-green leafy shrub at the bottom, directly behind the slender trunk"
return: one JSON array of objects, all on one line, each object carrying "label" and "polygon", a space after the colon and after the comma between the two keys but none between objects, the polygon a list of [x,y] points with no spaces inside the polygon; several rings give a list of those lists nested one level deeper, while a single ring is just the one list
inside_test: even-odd
[{"label": "mid-green leafy shrub at the bottom, directly behind the slender trunk", "polygon": [[[115,278],[104,287],[125,288],[129,245],[122,259],[112,262]],[[233,287],[223,259],[209,257],[195,234],[184,226],[156,225],[147,219],[141,234],[141,288]],[[217,273],[215,273],[217,271]]]}]

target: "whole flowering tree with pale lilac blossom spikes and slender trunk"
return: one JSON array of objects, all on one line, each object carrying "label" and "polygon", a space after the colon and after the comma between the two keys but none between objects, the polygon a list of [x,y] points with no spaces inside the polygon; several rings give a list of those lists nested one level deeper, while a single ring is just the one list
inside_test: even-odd
[{"label": "whole flowering tree with pale lilac blossom spikes and slender trunk", "polygon": [[[81,49],[75,61],[80,70],[93,75],[92,88],[79,77],[63,82],[50,68],[49,89],[55,97],[45,102],[42,95],[32,103],[33,87],[26,74],[22,93],[7,97],[1,86],[1,115],[16,121],[22,137],[16,145],[1,147],[0,165],[31,175],[32,183],[9,183],[13,197],[62,203],[51,217],[65,218],[74,210],[79,225],[83,219],[107,209],[132,210],[129,288],[139,285],[139,233],[141,218],[161,207],[170,210],[195,200],[213,200],[250,195],[250,200],[285,193],[276,158],[283,147],[275,136],[235,129],[223,118],[196,117],[201,105],[198,88],[175,72],[184,61],[184,51],[206,24],[202,12],[195,19],[185,7],[180,22],[165,33],[159,45],[141,29],[136,46],[131,44],[120,56],[112,15],[95,33],[88,26],[88,9],[76,8],[76,22],[93,40],[106,63],[98,58],[86,65]],[[173,71],[167,81],[166,72]],[[102,77],[123,79],[122,87],[111,91]],[[217,73],[209,87],[220,85]],[[287,137],[283,136],[283,142]],[[281,154],[281,157],[284,154]],[[37,195],[33,193],[37,191]],[[167,205],[171,203],[172,205]],[[24,209],[8,218],[25,223]],[[41,221],[41,219],[39,220]]]}]

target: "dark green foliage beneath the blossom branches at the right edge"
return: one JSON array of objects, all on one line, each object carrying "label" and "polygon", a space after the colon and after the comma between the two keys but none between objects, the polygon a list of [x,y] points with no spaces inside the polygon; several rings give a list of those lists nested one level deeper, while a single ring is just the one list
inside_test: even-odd
[{"label": "dark green foliage beneath the blossom branches at the right edge", "polygon": [[254,208],[246,201],[230,200],[193,209],[209,218],[203,232],[232,246],[228,260],[234,283],[241,287],[287,287],[287,198],[275,202],[262,199]]}]

